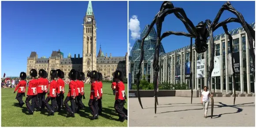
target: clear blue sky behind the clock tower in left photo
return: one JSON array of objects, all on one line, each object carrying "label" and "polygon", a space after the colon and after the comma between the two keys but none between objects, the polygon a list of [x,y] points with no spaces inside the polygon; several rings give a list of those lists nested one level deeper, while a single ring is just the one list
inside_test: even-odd
[{"label": "clear blue sky behind the clock tower in left photo", "polygon": [[[26,72],[27,57],[49,57],[60,49],[64,57],[83,52],[83,17],[88,1],[2,1],[2,72]],[[127,1],[92,1],[97,24],[97,54],[127,52]]]}]

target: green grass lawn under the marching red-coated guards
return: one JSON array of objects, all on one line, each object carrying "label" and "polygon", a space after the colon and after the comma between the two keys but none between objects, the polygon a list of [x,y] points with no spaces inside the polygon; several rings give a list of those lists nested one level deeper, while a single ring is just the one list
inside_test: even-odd
[{"label": "green grass lawn under the marching red-coated guards", "polygon": [[[127,84],[125,84],[125,92]],[[26,88],[27,90],[27,88]],[[98,120],[90,120],[91,114],[88,107],[90,98],[90,84],[85,84],[85,99],[82,99],[85,109],[80,110],[80,113],[75,113],[75,118],[66,117],[66,109],[60,113],[54,113],[54,116],[47,116],[46,108],[42,112],[34,112],[34,115],[27,115],[28,110],[26,105],[23,108],[18,107],[18,101],[15,99],[16,94],[13,94],[14,88],[2,88],[1,90],[1,117],[2,127],[127,127],[127,120],[124,122],[117,121],[118,115],[114,109],[115,96],[111,89],[111,83],[103,83],[102,97],[102,115]],[[27,92],[27,91],[26,91]],[[67,96],[68,85],[65,86],[65,94]],[[128,97],[128,95],[127,95]],[[26,97],[23,97],[25,102]],[[30,101],[31,102],[31,101]],[[127,101],[128,102],[128,101]],[[49,102],[50,103],[50,102]],[[70,105],[70,102],[69,102]],[[124,105],[127,109],[127,103]]]}]

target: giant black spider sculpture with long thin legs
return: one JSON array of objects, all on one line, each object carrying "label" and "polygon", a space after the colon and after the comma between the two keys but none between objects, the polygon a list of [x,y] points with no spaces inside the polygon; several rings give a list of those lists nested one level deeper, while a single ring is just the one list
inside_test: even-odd
[{"label": "giant black spider sculpture with long thin legs", "polygon": [[[226,19],[225,21],[219,22],[218,20],[220,18],[220,16],[222,15],[223,11],[227,10],[232,12],[233,14],[235,14],[237,16],[237,18],[229,18]],[[174,15],[180,19],[183,23],[184,26],[186,27],[186,29],[188,30],[188,33],[185,32],[174,32],[174,31],[166,31],[165,33],[161,35],[161,30],[162,30],[162,23],[164,21],[164,18],[168,15],[168,14],[172,14],[174,13]],[[225,34],[228,36],[229,40],[230,40],[230,51],[231,51],[231,57],[232,57],[232,64],[233,62],[233,45],[232,45],[232,36],[228,33],[228,29],[226,24],[227,23],[231,23],[231,22],[237,22],[237,23],[241,23],[242,27],[244,28],[245,32],[248,35],[248,43],[250,46],[250,55],[252,57],[252,61],[253,61],[253,65],[255,65],[255,53],[253,50],[253,40],[255,41],[255,30],[252,29],[252,27],[245,22],[244,17],[241,15],[240,12],[238,12],[235,8],[232,7],[232,5],[230,4],[229,1],[227,1],[224,5],[222,5],[222,8],[218,11],[217,16],[215,17],[213,23],[211,23],[211,20],[207,19],[205,22],[200,22],[198,23],[197,26],[194,26],[193,23],[188,19],[187,15],[185,14],[183,8],[176,8],[173,6],[173,4],[169,1],[164,1],[160,11],[157,13],[157,15],[154,17],[154,20],[152,21],[149,29],[147,30],[146,35],[142,38],[142,42],[140,45],[140,49],[141,49],[141,54],[140,54],[140,61],[139,61],[139,67],[141,67],[142,61],[143,61],[143,45],[144,45],[144,40],[145,38],[148,36],[148,34],[150,33],[152,27],[154,26],[154,24],[156,24],[157,27],[157,40],[156,40],[156,44],[155,44],[155,49],[154,49],[154,61],[153,61],[153,70],[154,70],[154,80],[153,80],[153,84],[154,84],[154,98],[155,98],[155,104],[154,104],[154,108],[155,108],[155,113],[156,113],[156,105],[158,103],[158,99],[157,99],[157,79],[158,79],[158,72],[159,72],[159,46],[160,46],[160,41],[171,35],[183,35],[186,37],[190,37],[190,65],[192,65],[192,38],[195,38],[195,50],[197,53],[204,53],[207,50],[207,38],[209,37],[209,44],[211,45],[211,61],[210,61],[210,66],[209,66],[209,75],[208,75],[208,79],[207,79],[207,87],[210,90],[210,94],[211,94],[211,72],[213,71],[214,68],[214,42],[213,42],[213,32],[218,29],[218,27],[222,26]],[[233,67],[233,66],[232,66]],[[233,70],[233,90],[234,90],[234,101],[233,104],[235,104],[235,99],[236,99],[236,88],[235,88],[235,69],[234,67],[232,68]],[[140,95],[139,95],[139,83],[140,83],[140,72],[141,69],[139,68],[139,71],[137,73],[137,96],[139,99],[139,104],[141,105],[141,108],[143,109],[143,106],[141,104],[141,100],[140,100]],[[254,71],[255,72],[255,71]],[[254,73],[253,73],[254,74]],[[254,76],[255,79],[255,76]],[[190,83],[192,84],[192,68],[190,68]],[[191,89],[191,104],[192,104],[192,94],[193,91]],[[211,97],[211,118],[213,115],[213,105],[214,105],[214,99]]]}]

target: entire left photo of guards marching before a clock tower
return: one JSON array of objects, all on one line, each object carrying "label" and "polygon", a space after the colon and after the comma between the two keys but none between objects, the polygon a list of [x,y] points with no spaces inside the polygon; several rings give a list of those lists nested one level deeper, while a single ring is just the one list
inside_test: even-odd
[{"label": "entire left photo of guards marching before a clock tower", "polygon": [[128,127],[127,10],[2,1],[1,126]]}]

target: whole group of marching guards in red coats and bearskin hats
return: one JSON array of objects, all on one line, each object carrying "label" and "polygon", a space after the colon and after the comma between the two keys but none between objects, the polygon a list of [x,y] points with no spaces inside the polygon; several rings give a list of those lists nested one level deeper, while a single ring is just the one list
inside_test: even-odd
[{"label": "whole group of marching guards in red coats and bearskin hats", "polygon": [[[38,79],[36,77],[38,76]],[[85,105],[82,102],[84,96],[84,80],[85,74],[83,72],[78,72],[72,69],[68,77],[70,79],[68,86],[68,94],[64,100],[65,93],[65,82],[64,72],[60,69],[50,71],[50,81],[47,79],[48,73],[40,69],[37,72],[35,69],[30,70],[31,80],[28,83],[28,91],[26,94],[25,103],[22,98],[25,97],[26,93],[26,73],[20,73],[20,81],[17,87],[14,90],[14,93],[18,91],[16,99],[19,102],[19,106],[22,107],[26,104],[28,109],[28,114],[33,114],[34,109],[36,111],[41,111],[46,107],[48,111],[48,116],[54,115],[55,112],[60,112],[61,109],[64,109],[64,106],[68,112],[67,117],[75,117],[75,113],[85,108]],[[97,71],[92,71],[87,73],[87,77],[90,78],[90,100],[88,106],[92,117],[90,120],[95,120],[99,118],[99,115],[102,114],[102,73]],[[114,108],[119,115],[121,122],[127,120],[128,111],[124,108],[124,103],[126,98],[124,83],[124,75],[120,71],[113,73],[114,82],[112,83],[113,92],[115,92],[116,98],[114,103]],[[47,97],[45,98],[47,94]],[[31,104],[30,104],[31,100]],[[51,101],[51,105],[49,105]],[[71,107],[68,105],[68,102],[71,103]]]}]

